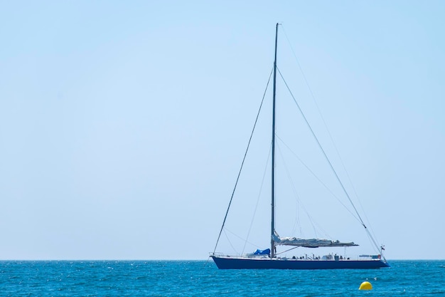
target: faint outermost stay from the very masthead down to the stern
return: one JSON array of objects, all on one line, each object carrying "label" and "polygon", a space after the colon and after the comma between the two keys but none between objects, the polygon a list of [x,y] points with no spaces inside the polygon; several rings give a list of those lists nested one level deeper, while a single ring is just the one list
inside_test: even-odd
[{"label": "faint outermost stay from the very masthead down to the stern", "polygon": [[328,132],[329,138],[331,139],[331,142],[332,142],[332,144],[333,144],[333,147],[334,147],[334,149],[336,150],[338,159],[339,159],[340,162],[341,162],[341,166],[343,167],[343,170],[344,170],[345,173],[346,173],[346,177],[348,177],[348,182],[350,183],[351,187],[353,188],[353,192],[354,192],[354,194],[355,194],[355,197],[357,198],[358,204],[360,204],[360,208],[362,209],[363,214],[365,214],[365,219],[366,219],[366,221],[367,221],[367,223],[368,223],[368,225],[369,225],[369,227],[370,227],[370,229],[371,229],[371,231],[372,231],[372,234],[374,235],[374,237],[376,237],[376,236],[375,236],[375,232],[374,232],[374,230],[372,230],[372,226],[370,226],[370,220],[368,219],[368,216],[366,215],[365,209],[363,208],[363,204],[362,204],[362,202],[360,201],[360,198],[358,197],[357,190],[355,189],[354,184],[353,184],[353,182],[352,182],[352,179],[350,178],[349,172],[348,172],[348,170],[346,170],[345,163],[343,162],[343,159],[341,158],[341,155],[340,155],[340,152],[338,151],[336,142],[333,140],[333,137],[332,137],[332,135],[331,135],[331,131],[329,130],[328,125],[326,124],[326,120],[323,118],[323,114],[321,113],[320,107],[318,106],[317,100],[315,99],[315,95],[313,95],[312,88],[311,88],[311,86],[309,85],[308,80],[306,79],[306,75],[304,75],[303,68],[301,68],[300,61],[299,61],[299,59],[296,57],[296,53],[295,53],[295,51],[294,51],[294,48],[293,48],[292,45],[291,45],[291,41],[289,40],[289,37],[287,36],[287,34],[286,34],[286,30],[285,30],[285,28],[284,28],[283,25],[282,25],[282,28],[283,28],[284,36],[286,36],[286,40],[287,40],[287,42],[289,43],[289,48],[291,48],[292,54],[294,55],[294,58],[295,58],[295,61],[296,61],[296,65],[299,66],[301,75],[303,75],[304,82],[306,83],[306,86],[308,87],[309,93],[311,93],[311,98],[312,98],[312,100],[313,100],[313,103],[315,103],[315,106],[316,106],[316,108],[317,108],[318,114],[320,115],[321,120],[323,121],[323,125],[324,125],[326,131]]}]

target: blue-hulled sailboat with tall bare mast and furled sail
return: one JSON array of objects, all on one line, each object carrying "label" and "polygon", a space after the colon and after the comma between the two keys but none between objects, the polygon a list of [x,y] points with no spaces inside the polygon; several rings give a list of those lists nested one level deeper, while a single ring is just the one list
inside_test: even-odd
[{"label": "blue-hulled sailboat with tall bare mast and furled sail", "polygon": [[[350,259],[348,257],[337,256],[337,254],[328,254],[325,256],[300,256],[300,257],[281,257],[277,255],[277,246],[293,246],[293,247],[303,247],[303,248],[318,248],[318,247],[350,247],[358,246],[354,242],[341,242],[338,240],[331,239],[300,239],[295,237],[280,237],[275,230],[275,97],[276,97],[276,85],[277,85],[277,41],[278,41],[278,28],[277,24],[275,31],[275,51],[274,51],[274,68],[273,68],[273,96],[272,96],[272,196],[271,196],[271,229],[270,229],[270,248],[254,251],[252,254],[244,254],[242,256],[230,256],[227,254],[216,253],[218,246],[218,241],[220,239],[221,233],[224,228],[225,219],[227,218],[227,213],[230,209],[230,204],[232,199],[230,199],[229,208],[225,215],[223,226],[221,227],[220,234],[218,236],[217,243],[215,245],[215,250],[210,254],[210,257],[215,262],[218,269],[379,269],[383,267],[388,267],[384,256],[382,256],[383,246],[380,248],[375,244],[379,250],[378,254],[375,255],[362,255],[357,259]],[[323,150],[323,149],[322,149]],[[325,154],[326,155],[326,154]],[[328,161],[329,162],[329,161]],[[243,161],[244,163],[244,161]],[[330,163],[331,165],[331,163]],[[332,167],[332,165],[331,165]],[[332,167],[333,169],[333,167]],[[335,172],[335,170],[334,170]],[[238,175],[238,178],[240,175]],[[338,178],[338,176],[337,176]],[[338,179],[340,182],[340,179]],[[236,186],[235,186],[236,187]],[[344,189],[344,187],[343,187]],[[234,190],[235,192],[235,190]],[[347,194],[347,193],[346,193]],[[233,197],[233,194],[232,194]],[[351,201],[352,203],[352,201]],[[360,216],[359,216],[360,217]],[[365,227],[365,230],[370,235],[368,229],[366,228],[363,220],[360,218],[361,223]],[[371,236],[372,237],[372,236]]]}]

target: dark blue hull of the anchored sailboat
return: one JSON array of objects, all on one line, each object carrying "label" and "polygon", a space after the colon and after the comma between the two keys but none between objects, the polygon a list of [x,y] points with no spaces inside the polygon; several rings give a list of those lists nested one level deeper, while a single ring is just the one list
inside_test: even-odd
[{"label": "dark blue hull of the anchored sailboat", "polygon": [[382,260],[299,260],[267,258],[232,258],[211,256],[218,269],[378,269],[389,267]]}]

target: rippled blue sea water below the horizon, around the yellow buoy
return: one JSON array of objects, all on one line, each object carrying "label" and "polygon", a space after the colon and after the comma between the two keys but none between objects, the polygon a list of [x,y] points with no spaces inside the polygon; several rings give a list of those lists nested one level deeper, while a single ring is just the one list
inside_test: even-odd
[{"label": "rippled blue sea water below the horizon, around the yellow buoy", "polygon": [[[445,261],[218,270],[213,261],[0,261],[0,296],[445,296]],[[369,281],[372,291],[359,291]]]}]

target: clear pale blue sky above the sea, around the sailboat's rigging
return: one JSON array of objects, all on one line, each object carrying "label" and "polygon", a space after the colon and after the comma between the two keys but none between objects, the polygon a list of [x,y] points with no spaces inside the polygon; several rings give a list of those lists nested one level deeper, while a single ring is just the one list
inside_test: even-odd
[{"label": "clear pale blue sky above the sea, around the sailboat's rigging", "polygon": [[[444,13],[443,1],[1,1],[0,259],[207,259],[277,21],[387,258],[445,259]],[[323,212],[318,224],[347,229]]]}]

